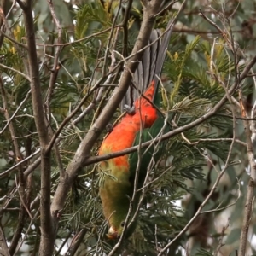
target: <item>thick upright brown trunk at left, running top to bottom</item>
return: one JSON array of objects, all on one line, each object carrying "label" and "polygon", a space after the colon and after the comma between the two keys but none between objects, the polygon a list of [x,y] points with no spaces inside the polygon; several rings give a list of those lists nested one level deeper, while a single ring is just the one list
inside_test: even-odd
[{"label": "thick upright brown trunk at left, running top to bottom", "polygon": [[40,255],[52,255],[55,244],[55,229],[50,214],[50,151],[47,153],[45,151],[49,143],[49,135],[45,122],[44,104],[40,86],[34,20],[32,16],[32,1],[27,0],[25,4],[19,0],[18,3],[20,4],[20,8],[23,10],[24,14],[26,42],[28,48],[27,58],[29,63],[29,76],[31,78],[32,108],[41,148],[41,241],[39,252]]}]

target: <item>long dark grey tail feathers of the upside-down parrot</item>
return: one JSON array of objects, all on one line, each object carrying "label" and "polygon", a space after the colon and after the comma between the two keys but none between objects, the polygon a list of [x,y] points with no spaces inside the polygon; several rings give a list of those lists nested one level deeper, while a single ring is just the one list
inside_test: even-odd
[{"label": "long dark grey tail feathers of the upside-down parrot", "polygon": [[[133,77],[133,84],[135,86],[130,86],[125,98],[121,104],[121,108],[125,105],[132,106],[135,100],[141,96],[151,82],[154,81],[154,95],[158,90],[159,77],[162,72],[162,67],[166,58],[166,50],[172,34],[172,23],[173,20],[168,22],[166,32],[164,36],[160,38],[160,30],[154,29],[151,32],[148,44],[151,44],[147,49],[145,49],[143,54],[143,60],[140,61],[136,72]],[[154,102],[154,96],[153,102]]]}]

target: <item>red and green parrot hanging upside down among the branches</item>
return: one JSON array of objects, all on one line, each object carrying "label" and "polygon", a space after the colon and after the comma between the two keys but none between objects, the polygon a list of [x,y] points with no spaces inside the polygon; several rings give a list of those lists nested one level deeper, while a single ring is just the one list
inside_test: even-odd
[{"label": "red and green parrot hanging upside down among the branches", "polygon": [[[108,136],[103,139],[99,148],[99,155],[131,148],[131,146],[140,143],[142,137],[143,142],[149,141],[152,137],[156,137],[162,129],[163,117],[155,106],[160,105],[159,77],[171,38],[172,23],[172,20],[170,20],[161,41],[154,42],[160,37],[160,30],[154,29],[151,32],[149,39],[151,45],[145,49],[143,59],[133,76],[133,83],[140,90],[141,95],[138,90],[129,87],[120,107],[122,110],[126,110],[126,113]],[[153,42],[154,44],[152,44]],[[133,96],[133,99],[131,96]],[[133,103],[133,107],[130,108],[125,103],[130,105]],[[141,132],[143,132],[142,136],[140,136]],[[143,187],[152,153],[153,150],[151,150],[151,153],[148,152],[143,155],[138,172],[137,189]],[[138,153],[135,152],[104,160],[99,164],[99,172],[102,174],[99,195],[102,201],[103,214],[109,225],[107,234],[109,239],[118,239],[124,230],[125,219],[129,212],[135,186],[138,157]],[[157,161],[156,158],[160,158],[160,154],[154,154],[155,162]],[[140,195],[141,192],[137,192],[132,201],[131,218],[137,210]],[[136,226],[137,218],[125,229],[125,238],[131,236]]]}]

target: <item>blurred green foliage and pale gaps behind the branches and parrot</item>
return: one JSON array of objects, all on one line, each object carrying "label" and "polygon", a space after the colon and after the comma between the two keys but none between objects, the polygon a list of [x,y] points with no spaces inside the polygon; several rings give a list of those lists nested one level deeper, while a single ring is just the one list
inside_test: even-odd
[{"label": "blurred green foliage and pale gaps behind the branches and parrot", "polygon": [[[166,1],[166,6],[169,3]],[[157,17],[155,28],[164,29],[167,21],[180,9],[181,3],[177,1],[166,8]],[[48,2],[38,0],[33,3],[42,94],[45,104],[50,99],[47,111],[50,113],[48,118],[52,131],[84,101],[61,131],[58,145],[64,168],[118,84],[121,66],[114,70],[113,76],[107,76],[113,69],[113,55],[118,63],[121,55],[131,53],[137,39],[143,15],[142,4],[137,0],[132,3],[128,37],[123,33],[123,28],[117,26],[109,39],[113,21],[119,25],[124,19],[126,4],[123,1],[120,6],[119,1],[110,0],[54,0],[55,14],[62,28],[61,42],[57,42],[58,31]],[[2,0],[2,8],[6,17],[2,20],[2,31],[20,44],[26,44],[20,7],[15,1]],[[173,28],[161,78],[166,89],[162,109],[175,113],[174,125],[189,124],[210,111],[224,96],[225,89],[236,82],[237,71],[242,71],[256,52],[255,8],[254,0],[195,0],[185,3]],[[216,26],[212,26],[201,13]],[[217,26],[224,33],[219,32]],[[10,246],[20,221],[20,195],[16,189],[19,174],[17,169],[6,171],[15,166],[19,159],[15,157],[9,127],[5,127],[6,109],[9,116],[15,113],[12,125],[19,143],[20,157],[26,159],[37,152],[39,144],[29,81],[20,74],[27,74],[26,49],[4,38],[3,33],[0,40],[3,84],[0,98],[0,218]],[[234,43],[236,52],[230,49],[229,42]],[[49,79],[59,43],[62,45],[58,73],[53,90],[49,91]],[[91,93],[100,79],[101,86]],[[255,85],[253,75],[241,84],[242,100],[253,120],[251,112],[255,102]],[[164,90],[161,93],[165,95]],[[157,255],[160,248],[165,247],[188,224],[211,191],[219,172],[225,169],[217,188],[202,209],[205,213],[189,225],[165,255],[236,255],[250,168],[241,112],[236,104],[239,96],[235,93],[233,97],[234,101],[225,103],[218,113],[201,125],[168,140],[163,158],[170,162],[169,170],[164,172],[159,168],[154,172],[152,178],[158,179],[148,189],[139,213],[137,230],[124,241],[117,254]],[[118,109],[109,123],[113,123],[119,114]],[[92,148],[91,155],[97,154],[102,137]],[[233,137],[237,139],[235,143],[232,143]],[[21,165],[21,171],[26,173],[25,203],[33,218],[27,214],[22,217],[21,237],[15,255],[38,254],[40,167],[26,172],[37,159],[38,154],[32,155]],[[54,195],[60,170],[55,154],[52,154],[51,164]],[[96,166],[84,167],[68,194],[55,241],[55,255],[108,255],[115,244],[105,236],[108,227],[98,197]],[[247,255],[255,254],[255,247],[256,220],[253,215]]]}]

